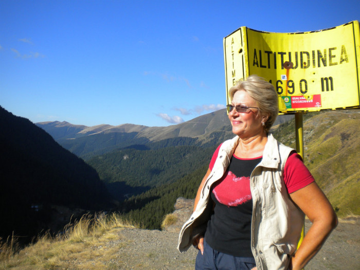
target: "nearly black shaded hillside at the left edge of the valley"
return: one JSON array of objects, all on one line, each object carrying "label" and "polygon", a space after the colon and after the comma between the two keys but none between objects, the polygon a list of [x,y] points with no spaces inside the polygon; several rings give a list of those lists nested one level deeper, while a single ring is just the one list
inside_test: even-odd
[{"label": "nearly black shaded hillside at the left edge of the valley", "polygon": [[33,237],[46,230],[51,205],[109,206],[109,193],[92,167],[28,119],[2,107],[0,149],[0,236],[14,231]]}]

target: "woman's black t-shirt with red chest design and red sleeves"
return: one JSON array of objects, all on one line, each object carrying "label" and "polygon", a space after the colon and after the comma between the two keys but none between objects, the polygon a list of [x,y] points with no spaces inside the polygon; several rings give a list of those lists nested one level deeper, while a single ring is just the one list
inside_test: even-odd
[{"label": "woman's black t-shirt with red chest design and red sleeves", "polygon": [[[220,146],[213,154],[212,170]],[[262,157],[243,159],[235,155],[223,177],[212,186],[211,199],[215,203],[205,233],[206,242],[215,250],[236,257],[253,257],[251,253],[251,215],[253,200],[250,175]],[[286,161],[284,182],[289,193],[314,181],[301,157],[293,152]]]}]

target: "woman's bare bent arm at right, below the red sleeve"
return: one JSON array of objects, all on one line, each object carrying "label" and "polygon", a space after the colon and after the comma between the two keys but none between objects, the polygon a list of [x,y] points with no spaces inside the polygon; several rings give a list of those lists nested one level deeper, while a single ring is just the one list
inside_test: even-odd
[{"label": "woman's bare bent arm at right, below the red sleeve", "polygon": [[313,182],[290,194],[294,203],[307,215],[312,225],[292,258],[290,269],[302,269],[321,248],[337,225],[337,217],[329,200]]}]

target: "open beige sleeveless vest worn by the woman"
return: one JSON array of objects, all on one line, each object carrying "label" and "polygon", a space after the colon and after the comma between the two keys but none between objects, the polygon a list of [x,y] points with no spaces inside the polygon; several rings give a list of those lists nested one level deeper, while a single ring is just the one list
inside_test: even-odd
[{"label": "open beige sleeveless vest worn by the woman", "polygon": [[[205,232],[211,214],[210,187],[225,173],[238,143],[236,136],[220,147],[196,209],[180,231],[177,246],[180,252],[185,252],[193,238]],[[262,160],[250,176],[253,197],[251,250],[258,270],[287,269],[301,235],[304,214],[290,199],[283,181],[286,159],[293,150],[269,134]]]}]

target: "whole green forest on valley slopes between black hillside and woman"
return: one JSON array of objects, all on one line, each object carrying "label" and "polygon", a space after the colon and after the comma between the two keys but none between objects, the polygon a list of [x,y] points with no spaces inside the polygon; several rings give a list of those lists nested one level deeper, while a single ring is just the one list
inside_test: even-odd
[{"label": "whole green forest on valley slopes between black hillside and woman", "polygon": [[115,211],[142,228],[160,229],[178,197],[195,197],[213,152],[231,137],[219,131],[206,140],[171,138],[114,150],[87,163],[120,201]]}]

